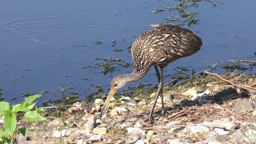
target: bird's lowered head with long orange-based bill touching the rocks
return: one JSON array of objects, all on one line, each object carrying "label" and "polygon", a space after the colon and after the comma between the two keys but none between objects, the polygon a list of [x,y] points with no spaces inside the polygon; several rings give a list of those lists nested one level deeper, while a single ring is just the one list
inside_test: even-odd
[{"label": "bird's lowered head with long orange-based bill touching the rocks", "polygon": [[111,89],[108,93],[108,97],[103,105],[103,107],[101,108],[101,113],[100,113],[100,118],[103,116],[103,114],[105,113],[108,103],[110,102],[111,98],[114,96],[114,94],[116,93],[116,91],[118,89],[120,89],[121,87],[127,85],[129,82],[131,82],[131,74],[125,74],[125,75],[119,75],[116,76],[112,79],[111,81]]}]

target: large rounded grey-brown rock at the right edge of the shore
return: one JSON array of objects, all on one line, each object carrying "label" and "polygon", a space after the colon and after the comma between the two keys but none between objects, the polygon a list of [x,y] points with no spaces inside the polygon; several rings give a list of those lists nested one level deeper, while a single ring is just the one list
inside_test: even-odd
[{"label": "large rounded grey-brown rock at the right edge of the shore", "polygon": [[253,110],[253,103],[249,100],[238,101],[235,103],[234,110],[237,113],[245,113],[246,111]]}]

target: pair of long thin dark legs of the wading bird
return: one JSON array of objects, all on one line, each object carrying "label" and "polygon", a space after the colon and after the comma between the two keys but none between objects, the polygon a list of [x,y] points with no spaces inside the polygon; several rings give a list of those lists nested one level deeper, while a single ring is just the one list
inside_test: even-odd
[{"label": "pair of long thin dark legs of the wading bird", "polygon": [[[155,66],[155,68],[156,68],[156,66]],[[157,68],[156,68],[156,69],[157,69]],[[158,73],[159,73],[159,72],[158,72]],[[158,97],[159,97],[159,94],[161,94],[161,100],[162,100],[162,114],[164,114],[164,113],[165,113],[165,109],[164,109],[164,99],[163,99],[163,69],[162,69],[162,68],[161,68],[160,82],[159,82],[159,84],[158,84],[158,90],[157,90],[157,92],[156,92],[156,99],[155,99],[155,101],[154,101],[153,107],[152,107],[152,109],[151,109],[151,111],[150,111],[150,114],[149,114],[149,116],[148,116],[148,119],[149,119],[150,124],[152,124],[153,121],[154,121],[154,119],[153,119],[153,111],[154,111],[154,108],[155,108],[155,106],[156,106],[156,101],[157,101],[157,99],[158,99]]]}]

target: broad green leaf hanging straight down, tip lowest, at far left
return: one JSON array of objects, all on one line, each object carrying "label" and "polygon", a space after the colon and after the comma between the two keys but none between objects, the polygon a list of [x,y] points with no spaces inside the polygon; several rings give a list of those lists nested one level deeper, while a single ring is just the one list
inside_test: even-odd
[{"label": "broad green leaf hanging straight down, tip lowest, at far left", "polygon": [[17,119],[14,113],[11,111],[7,111],[5,116],[4,116],[4,129],[6,130],[7,133],[13,136],[13,133],[16,129],[17,126]]}]

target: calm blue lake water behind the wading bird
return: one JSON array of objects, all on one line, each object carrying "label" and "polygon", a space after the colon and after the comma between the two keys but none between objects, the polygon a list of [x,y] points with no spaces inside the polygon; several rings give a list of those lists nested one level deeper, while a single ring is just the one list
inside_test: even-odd
[{"label": "calm blue lake water behind the wading bird", "polygon": [[[198,7],[185,9],[197,12],[195,17],[201,20],[181,27],[197,31],[203,46],[195,55],[171,63],[165,74],[175,73],[173,68],[177,66],[193,66],[201,71],[212,65],[210,62],[255,60],[248,57],[256,51],[256,1],[215,3],[214,7],[202,1]],[[45,91],[50,93],[43,94],[40,102],[57,99],[59,87],[73,87],[85,100],[95,85],[109,87],[106,84],[113,76],[131,72],[133,67],[104,75],[100,73],[103,67],[93,68],[94,63],[102,62],[96,59],[114,57],[132,62],[126,47],[151,28],[150,24],[166,23],[166,18],[179,15],[178,11],[166,9],[178,4],[179,1],[2,1],[0,89],[5,100],[15,97],[11,102],[21,102],[23,93]],[[165,11],[151,12],[156,8]],[[114,39],[116,44],[111,46]],[[96,41],[102,44],[95,44]],[[214,72],[223,71],[218,68]],[[140,82],[156,83],[154,72],[151,69]],[[255,68],[246,73],[255,73]],[[169,80],[170,77],[164,79]]]}]

